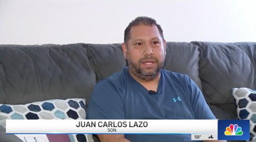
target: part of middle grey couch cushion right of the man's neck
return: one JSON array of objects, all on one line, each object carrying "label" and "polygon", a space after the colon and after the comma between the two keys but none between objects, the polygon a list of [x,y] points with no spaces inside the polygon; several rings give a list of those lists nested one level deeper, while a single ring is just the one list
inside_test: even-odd
[{"label": "part of middle grey couch cushion right of the man's neck", "polygon": [[198,61],[200,49],[187,42],[166,42],[166,61],[163,68],[172,72],[189,75],[201,89],[198,77]]}]

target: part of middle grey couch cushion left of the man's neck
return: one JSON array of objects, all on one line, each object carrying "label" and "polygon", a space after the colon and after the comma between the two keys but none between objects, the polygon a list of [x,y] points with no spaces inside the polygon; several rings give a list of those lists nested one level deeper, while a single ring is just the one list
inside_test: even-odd
[{"label": "part of middle grey couch cushion left of the man's neck", "polygon": [[88,58],[94,65],[97,82],[125,66],[121,44],[87,44]]}]

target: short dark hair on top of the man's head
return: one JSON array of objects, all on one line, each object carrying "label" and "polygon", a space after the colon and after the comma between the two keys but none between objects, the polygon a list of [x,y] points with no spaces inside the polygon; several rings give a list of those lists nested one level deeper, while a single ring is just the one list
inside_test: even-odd
[{"label": "short dark hair on top of the man's head", "polygon": [[132,20],[129,23],[128,27],[125,28],[125,37],[124,37],[125,44],[127,44],[128,40],[130,39],[131,28],[134,26],[140,25],[140,24],[150,25],[150,26],[156,25],[162,39],[164,40],[163,30],[162,30],[161,26],[157,24],[157,21],[153,18],[142,16],[142,17],[137,17],[136,19]]}]

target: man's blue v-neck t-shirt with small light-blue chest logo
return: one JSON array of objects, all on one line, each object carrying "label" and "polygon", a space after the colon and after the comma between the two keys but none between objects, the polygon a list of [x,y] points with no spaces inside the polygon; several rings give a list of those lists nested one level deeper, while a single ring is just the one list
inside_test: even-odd
[{"label": "man's blue v-neck t-shirt with small light-blue chest logo", "polygon": [[[161,70],[156,94],[136,81],[128,67],[93,89],[87,119],[216,119],[188,75]],[[131,142],[189,142],[186,134],[125,134]]]}]

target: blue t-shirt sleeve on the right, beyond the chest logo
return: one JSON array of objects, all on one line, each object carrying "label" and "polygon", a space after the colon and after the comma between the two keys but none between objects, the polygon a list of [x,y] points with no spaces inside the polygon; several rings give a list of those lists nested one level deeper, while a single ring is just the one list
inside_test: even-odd
[{"label": "blue t-shirt sleeve on the right, beyond the chest logo", "polygon": [[216,119],[195,82],[189,76],[186,76],[186,82],[195,119]]}]

